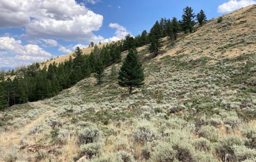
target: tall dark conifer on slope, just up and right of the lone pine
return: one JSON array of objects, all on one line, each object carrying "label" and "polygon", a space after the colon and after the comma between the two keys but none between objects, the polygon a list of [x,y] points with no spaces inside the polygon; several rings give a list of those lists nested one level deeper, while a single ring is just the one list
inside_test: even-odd
[{"label": "tall dark conifer on slope, just up and right of the lone pine", "polygon": [[161,41],[159,40],[162,37],[162,30],[158,21],[150,29],[149,39],[150,39],[150,52],[154,53],[156,57],[158,55],[158,49],[161,46]]}]

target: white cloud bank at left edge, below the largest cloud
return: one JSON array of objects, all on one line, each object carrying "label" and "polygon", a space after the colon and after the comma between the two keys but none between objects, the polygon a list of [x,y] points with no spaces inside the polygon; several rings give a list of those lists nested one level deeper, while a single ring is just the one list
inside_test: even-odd
[{"label": "white cloud bank at left edge, below the largest cloud", "polygon": [[8,66],[23,64],[24,62],[22,61],[25,61],[26,64],[35,61],[44,61],[52,56],[38,45],[22,45],[21,40],[15,40],[12,37],[0,37],[0,53],[7,56],[15,55],[15,57],[7,57],[7,59],[6,57],[3,57],[6,62],[0,61],[0,64],[6,64],[7,62],[10,62],[9,59],[11,59],[12,64],[9,64]]}]

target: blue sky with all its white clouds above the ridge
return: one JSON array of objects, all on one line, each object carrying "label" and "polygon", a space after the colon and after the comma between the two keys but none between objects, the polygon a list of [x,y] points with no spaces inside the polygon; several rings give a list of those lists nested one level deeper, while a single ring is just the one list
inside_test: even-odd
[{"label": "blue sky with all its white clouds above the ridge", "polygon": [[0,0],[0,67],[41,62],[76,46],[140,34],[182,9],[204,10],[208,20],[255,4],[254,0]]}]

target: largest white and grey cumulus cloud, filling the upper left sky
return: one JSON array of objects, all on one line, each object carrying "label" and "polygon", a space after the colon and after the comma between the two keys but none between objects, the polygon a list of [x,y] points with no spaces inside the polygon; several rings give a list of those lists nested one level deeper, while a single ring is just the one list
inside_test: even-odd
[{"label": "largest white and grey cumulus cloud, filling the upper left sky", "polygon": [[102,15],[75,0],[1,0],[0,11],[0,27],[24,26],[26,34],[23,36],[27,39],[99,39],[92,31],[99,30],[103,21]]}]

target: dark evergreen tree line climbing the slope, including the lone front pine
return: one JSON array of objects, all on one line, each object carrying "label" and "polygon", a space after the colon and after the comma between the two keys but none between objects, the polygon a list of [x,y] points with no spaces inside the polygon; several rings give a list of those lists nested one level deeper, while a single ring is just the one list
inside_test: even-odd
[{"label": "dark evergreen tree line climbing the slope, including the lone front pine", "polygon": [[[14,104],[50,98],[80,80],[90,77],[92,73],[101,84],[104,69],[114,62],[120,62],[121,53],[126,50],[129,50],[129,53],[120,68],[118,84],[128,87],[131,94],[133,87],[144,84],[142,63],[138,59],[136,48],[149,44],[150,52],[157,56],[161,47],[160,39],[169,36],[170,39],[176,40],[177,34],[181,31],[192,33],[195,25],[194,18],[200,25],[206,21],[203,10],[195,15],[192,8],[187,6],[183,10],[182,20],[177,20],[175,17],[172,20],[161,18],[160,21],[156,21],[149,33],[144,30],[135,37],[128,34],[125,39],[107,43],[102,48],[91,42],[90,46],[94,49],[89,55],[83,55],[82,50],[76,47],[72,54],[74,59],[70,56],[64,62],[59,64],[53,62],[48,67],[44,65],[43,68],[36,62],[12,71],[11,74],[15,76],[12,79],[6,78],[6,73],[1,72],[0,109]],[[112,70],[116,70],[115,66],[112,66]]]}]

